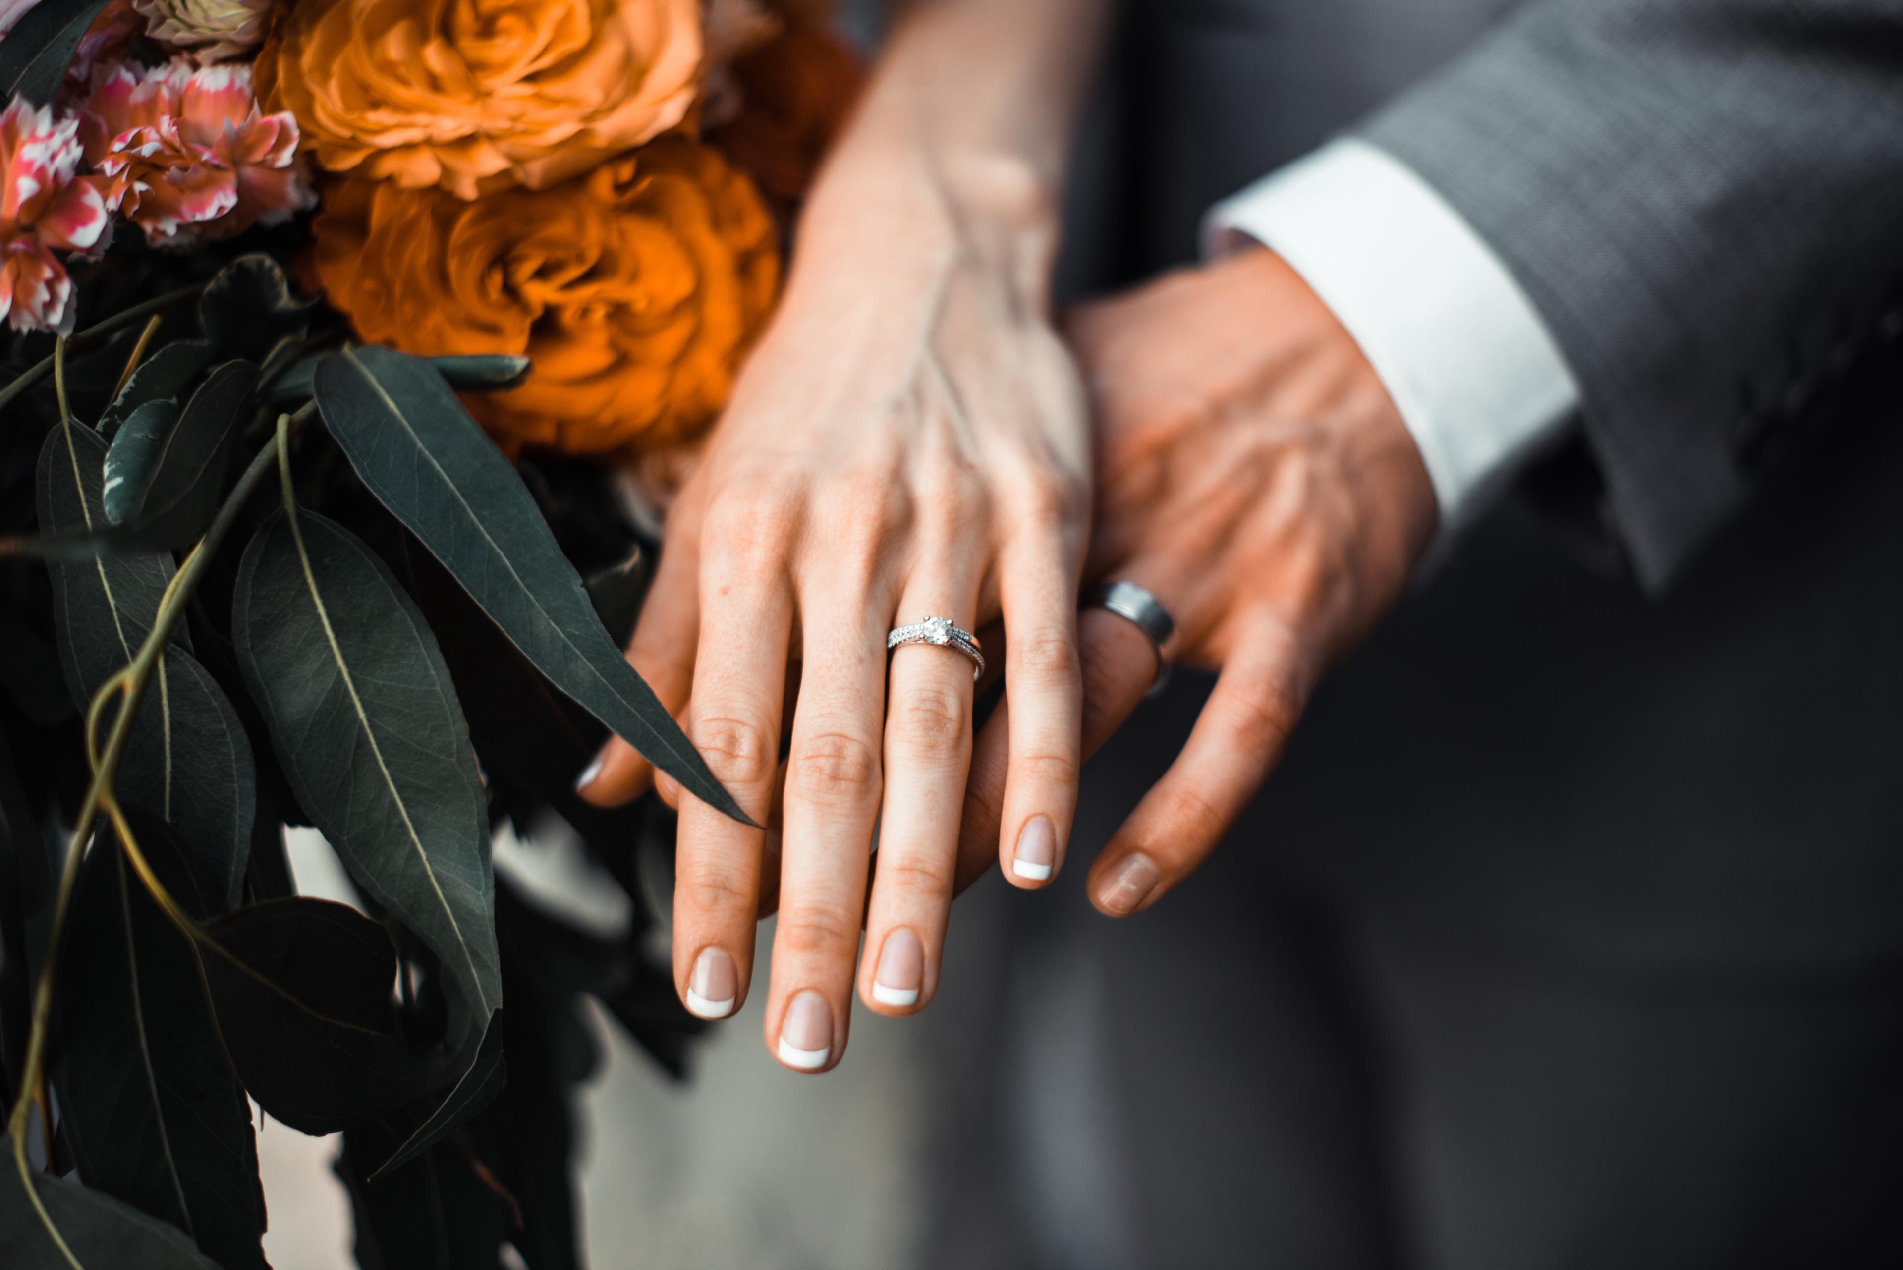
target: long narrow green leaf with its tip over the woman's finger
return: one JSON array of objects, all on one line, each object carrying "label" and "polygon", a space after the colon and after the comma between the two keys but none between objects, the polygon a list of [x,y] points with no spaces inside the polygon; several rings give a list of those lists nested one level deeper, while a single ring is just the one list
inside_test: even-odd
[{"label": "long narrow green leaf with its tip over the woman's finger", "polygon": [[318,407],[358,476],[548,680],[702,802],[746,821],[609,640],[575,566],[443,377],[388,348],[316,373]]}]

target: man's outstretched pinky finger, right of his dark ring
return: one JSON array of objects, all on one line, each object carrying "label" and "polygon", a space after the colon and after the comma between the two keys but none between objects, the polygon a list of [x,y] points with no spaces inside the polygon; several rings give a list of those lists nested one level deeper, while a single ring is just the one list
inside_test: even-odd
[{"label": "man's outstretched pinky finger, right of his dark ring", "polygon": [[1285,623],[1250,623],[1184,752],[1096,857],[1089,891],[1098,910],[1146,908],[1208,859],[1281,760],[1313,674]]}]

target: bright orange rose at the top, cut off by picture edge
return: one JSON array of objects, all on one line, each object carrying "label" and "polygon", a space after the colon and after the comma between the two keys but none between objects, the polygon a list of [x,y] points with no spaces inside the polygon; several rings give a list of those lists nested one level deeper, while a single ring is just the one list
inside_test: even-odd
[{"label": "bright orange rose at the top, cut off by picture edge", "polygon": [[257,88],[331,171],[476,198],[674,128],[698,70],[700,0],[301,0]]}]

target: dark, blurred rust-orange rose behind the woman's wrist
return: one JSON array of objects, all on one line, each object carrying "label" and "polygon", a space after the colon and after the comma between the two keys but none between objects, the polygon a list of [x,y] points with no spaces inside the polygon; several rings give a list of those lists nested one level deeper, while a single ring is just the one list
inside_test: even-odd
[{"label": "dark, blurred rust-orange rose behind the woman's wrist", "polygon": [[826,147],[845,126],[864,67],[839,36],[788,23],[765,46],[738,57],[731,74],[740,109],[708,141],[784,211],[807,192]]}]

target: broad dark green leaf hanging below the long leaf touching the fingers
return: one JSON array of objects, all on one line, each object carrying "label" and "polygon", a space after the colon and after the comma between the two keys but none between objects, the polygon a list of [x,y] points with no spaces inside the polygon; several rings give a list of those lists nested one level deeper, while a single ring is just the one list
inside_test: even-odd
[{"label": "broad dark green leaf hanging below the long leaf touching the fingers", "polygon": [[441,960],[466,1034],[502,1003],[489,819],[422,613],[348,529],[280,510],[238,566],[232,642],[299,805]]}]

